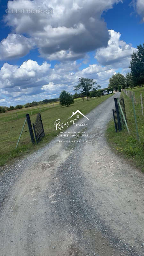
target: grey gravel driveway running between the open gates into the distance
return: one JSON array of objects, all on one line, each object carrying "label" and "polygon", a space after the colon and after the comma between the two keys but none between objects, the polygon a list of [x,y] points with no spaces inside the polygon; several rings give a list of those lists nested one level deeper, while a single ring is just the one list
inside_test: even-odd
[{"label": "grey gravel driveway running between the open gates into the distance", "polygon": [[0,255],[144,255],[143,174],[104,137],[118,95],[87,115],[84,142],[56,138],[3,168]]}]

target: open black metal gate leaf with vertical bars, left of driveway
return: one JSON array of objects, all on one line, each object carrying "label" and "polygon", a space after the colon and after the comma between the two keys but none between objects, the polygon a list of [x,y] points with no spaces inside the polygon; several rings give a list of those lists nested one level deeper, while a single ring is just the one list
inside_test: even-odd
[{"label": "open black metal gate leaf with vertical bars, left of driveway", "polygon": [[34,132],[35,132],[36,143],[38,144],[45,135],[40,113],[37,114],[36,121],[35,121],[35,123],[33,123],[33,128],[34,128]]}]

